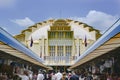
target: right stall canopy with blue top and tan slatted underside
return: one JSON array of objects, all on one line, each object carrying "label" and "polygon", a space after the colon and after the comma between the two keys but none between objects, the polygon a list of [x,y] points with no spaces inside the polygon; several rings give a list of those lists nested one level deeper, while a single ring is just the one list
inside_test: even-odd
[{"label": "right stall canopy with blue top and tan slatted underside", "polygon": [[76,68],[116,48],[120,50],[120,19],[118,19],[91,47],[81,54],[70,69]]}]

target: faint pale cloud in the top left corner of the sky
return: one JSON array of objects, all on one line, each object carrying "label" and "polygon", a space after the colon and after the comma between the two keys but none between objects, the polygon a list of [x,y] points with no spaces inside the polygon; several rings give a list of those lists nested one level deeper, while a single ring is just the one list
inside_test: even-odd
[{"label": "faint pale cloud in the top left corner of the sky", "polygon": [[12,7],[16,4],[17,0],[0,0],[0,8]]}]

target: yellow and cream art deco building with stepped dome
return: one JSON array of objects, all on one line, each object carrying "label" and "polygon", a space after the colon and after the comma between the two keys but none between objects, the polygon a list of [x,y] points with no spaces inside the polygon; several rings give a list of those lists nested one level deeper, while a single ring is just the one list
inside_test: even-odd
[{"label": "yellow and cream art deco building with stepped dome", "polygon": [[51,19],[30,26],[15,38],[41,57],[45,65],[67,68],[100,36],[98,30],[85,23]]}]

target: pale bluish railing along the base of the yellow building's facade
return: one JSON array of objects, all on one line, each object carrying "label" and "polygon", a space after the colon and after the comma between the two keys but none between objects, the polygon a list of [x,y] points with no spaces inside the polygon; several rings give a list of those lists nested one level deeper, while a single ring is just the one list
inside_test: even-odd
[{"label": "pale bluish railing along the base of the yellow building's facade", "polygon": [[77,56],[45,56],[45,65],[72,65]]}]

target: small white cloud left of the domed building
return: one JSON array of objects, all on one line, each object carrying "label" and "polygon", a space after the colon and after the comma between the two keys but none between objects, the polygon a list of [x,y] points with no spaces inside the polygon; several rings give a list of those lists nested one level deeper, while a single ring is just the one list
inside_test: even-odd
[{"label": "small white cloud left of the domed building", "polygon": [[12,22],[18,24],[19,26],[27,27],[34,24],[34,21],[32,21],[30,18],[26,17],[25,19],[15,19],[11,20]]}]

